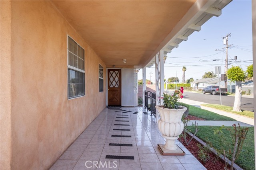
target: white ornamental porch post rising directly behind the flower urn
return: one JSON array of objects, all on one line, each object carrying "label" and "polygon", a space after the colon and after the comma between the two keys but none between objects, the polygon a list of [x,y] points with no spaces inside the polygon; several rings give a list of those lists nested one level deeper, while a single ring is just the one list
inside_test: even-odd
[{"label": "white ornamental porch post rising directly behind the flower urn", "polygon": [[162,104],[161,96],[163,93],[164,93],[164,51],[160,50],[156,54],[156,105]]}]

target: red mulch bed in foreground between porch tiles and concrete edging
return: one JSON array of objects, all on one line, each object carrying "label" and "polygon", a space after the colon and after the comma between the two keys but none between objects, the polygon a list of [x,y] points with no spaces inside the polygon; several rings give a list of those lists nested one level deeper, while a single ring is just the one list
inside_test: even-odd
[{"label": "red mulch bed in foreground between porch tiles and concrete edging", "polygon": [[[190,140],[190,137],[187,136],[187,141],[189,140]],[[192,141],[189,143],[188,146],[185,144],[185,140],[183,137],[180,137],[179,141],[199,160],[199,162],[207,170],[224,170],[225,164],[220,160],[218,160],[212,152],[210,152],[209,154],[210,159],[208,161],[203,162],[202,160],[200,160],[200,157],[198,156],[198,152],[200,148],[198,147],[198,142],[195,139],[192,139]]]}]

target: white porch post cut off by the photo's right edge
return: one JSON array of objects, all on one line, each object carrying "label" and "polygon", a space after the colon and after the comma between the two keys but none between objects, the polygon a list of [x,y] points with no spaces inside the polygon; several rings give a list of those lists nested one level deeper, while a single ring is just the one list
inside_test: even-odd
[{"label": "white porch post cut off by the photo's right edge", "polygon": [[[256,72],[256,1],[252,0],[252,59],[253,59],[253,72]],[[253,79],[256,80],[256,74],[253,74]],[[253,86],[253,103],[254,103],[254,148],[256,148],[256,86]],[[256,149],[254,150],[256,155]],[[255,159],[256,165],[256,159]]]}]

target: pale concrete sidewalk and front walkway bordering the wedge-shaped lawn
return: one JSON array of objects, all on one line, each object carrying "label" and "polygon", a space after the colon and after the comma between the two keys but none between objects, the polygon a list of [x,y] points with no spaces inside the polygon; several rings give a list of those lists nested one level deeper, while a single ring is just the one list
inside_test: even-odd
[{"label": "pale concrete sidewalk and front walkway bordering the wedge-shaped lawn", "polygon": [[[201,104],[207,104],[204,102],[198,102],[198,101],[188,100],[188,99],[184,99],[184,98],[182,100],[180,100],[180,102],[190,104],[192,106],[200,107],[201,109],[212,111],[219,115],[224,115],[224,116],[231,117],[231,118],[237,120],[237,121],[202,121],[202,122],[200,121],[200,123],[199,123],[199,121],[196,121],[196,122],[198,122],[198,125],[200,125],[200,126],[205,126],[205,125],[216,125],[216,126],[219,126],[219,125],[220,126],[221,125],[230,126],[231,125],[232,126],[234,124],[234,122],[236,122],[237,125],[239,123],[241,126],[247,126],[247,125],[254,126],[254,119],[252,119],[252,118],[244,117],[242,115],[236,115],[233,113],[229,113],[226,111],[222,111],[222,110],[218,110],[218,109],[214,109],[214,108],[210,108],[210,107],[201,106]],[[194,121],[192,121],[192,122],[194,122]],[[218,122],[220,122],[220,123],[218,123]],[[223,124],[223,123],[225,123],[225,124]]]}]

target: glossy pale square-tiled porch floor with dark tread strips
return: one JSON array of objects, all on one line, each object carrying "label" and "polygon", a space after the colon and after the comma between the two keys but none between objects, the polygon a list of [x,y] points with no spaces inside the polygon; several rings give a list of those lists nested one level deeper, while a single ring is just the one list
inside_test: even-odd
[{"label": "glossy pale square-tiled porch floor with dark tread strips", "polygon": [[[121,109],[125,111],[104,109],[50,170],[167,170],[170,168],[206,170],[179,141],[176,143],[186,152],[185,156],[162,156],[157,144],[164,143],[165,139],[158,130],[156,118],[150,116],[150,113],[144,114],[145,110],[142,107],[121,107]],[[135,111],[138,113],[133,114]],[[112,137],[112,135],[131,137]],[[109,146],[109,143],[132,144],[132,146]],[[133,156],[134,159],[106,159],[106,155]]]}]

